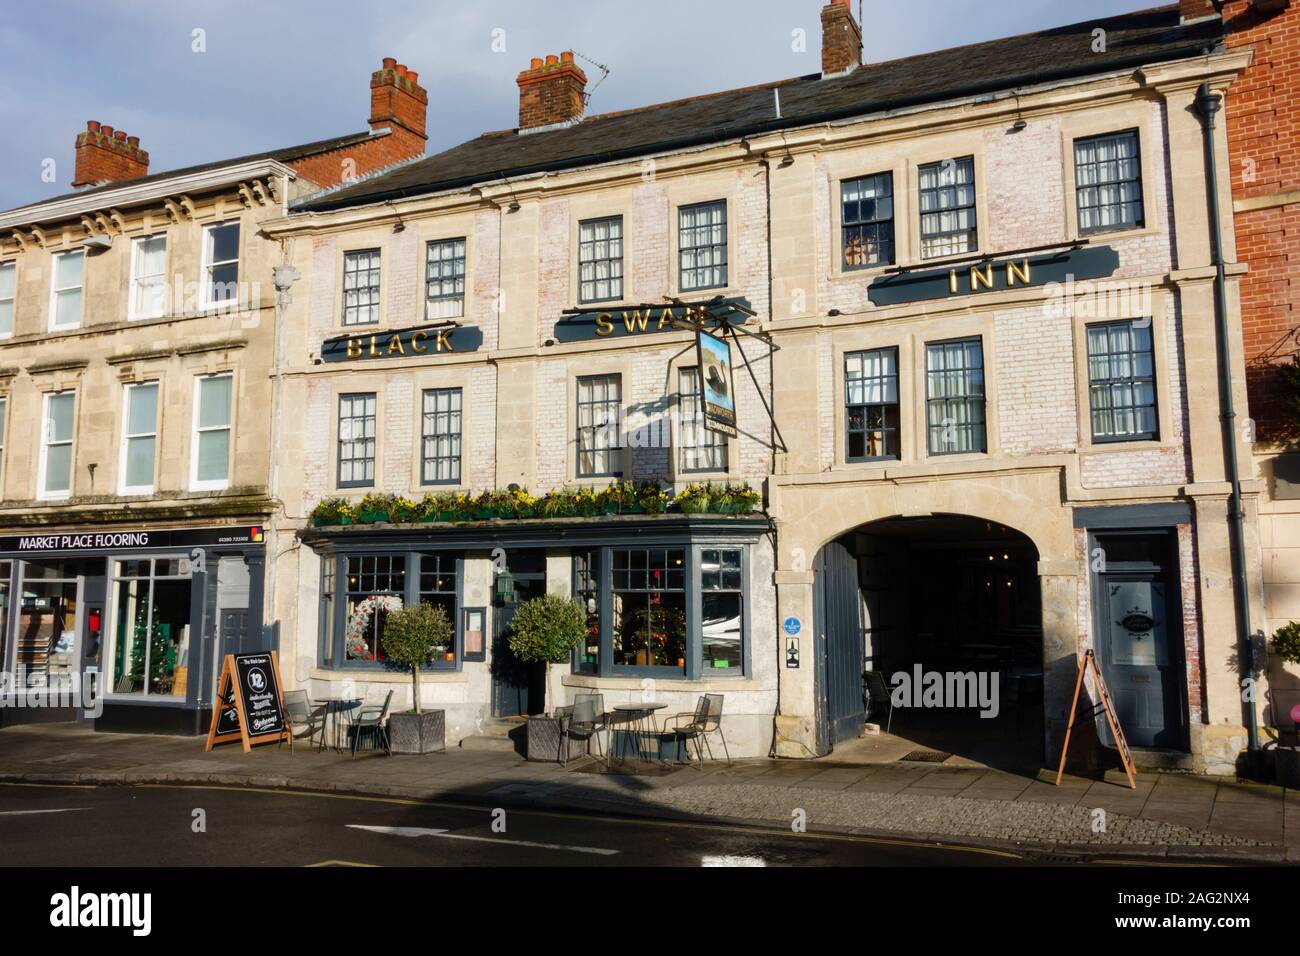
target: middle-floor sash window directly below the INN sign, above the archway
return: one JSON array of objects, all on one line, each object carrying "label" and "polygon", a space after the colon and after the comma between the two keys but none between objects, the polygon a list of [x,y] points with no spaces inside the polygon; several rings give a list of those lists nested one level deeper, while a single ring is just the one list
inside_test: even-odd
[{"label": "middle-floor sash window directly below the INN sign, above the archway", "polygon": [[979,338],[926,346],[926,425],[932,455],[987,450]]}]

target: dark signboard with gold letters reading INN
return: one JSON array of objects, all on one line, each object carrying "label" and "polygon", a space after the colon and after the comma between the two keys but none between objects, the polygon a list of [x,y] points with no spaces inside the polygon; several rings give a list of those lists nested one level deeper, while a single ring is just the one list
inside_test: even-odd
[{"label": "dark signboard with gold letters reading INN", "polygon": [[987,259],[949,268],[896,272],[872,280],[867,299],[874,306],[898,306],[1067,282],[1071,278],[1104,278],[1113,276],[1118,268],[1119,254],[1113,247],[1084,246],[1019,259]]}]

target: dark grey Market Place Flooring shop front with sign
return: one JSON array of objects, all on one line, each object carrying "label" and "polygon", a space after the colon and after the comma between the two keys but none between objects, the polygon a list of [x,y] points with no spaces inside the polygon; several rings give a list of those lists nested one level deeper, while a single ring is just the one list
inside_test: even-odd
[{"label": "dark grey Market Place Flooring shop front with sign", "polygon": [[260,525],[0,537],[0,726],[203,734],[224,654],[263,649]]}]

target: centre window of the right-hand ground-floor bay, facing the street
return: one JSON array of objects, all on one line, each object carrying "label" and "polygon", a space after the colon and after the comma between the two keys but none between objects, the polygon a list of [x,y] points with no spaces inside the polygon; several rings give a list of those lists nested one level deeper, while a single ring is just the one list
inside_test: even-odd
[{"label": "centre window of the right-hand ground-floor bay, facing the street", "polygon": [[615,667],[686,672],[685,551],[615,548],[611,551]]}]

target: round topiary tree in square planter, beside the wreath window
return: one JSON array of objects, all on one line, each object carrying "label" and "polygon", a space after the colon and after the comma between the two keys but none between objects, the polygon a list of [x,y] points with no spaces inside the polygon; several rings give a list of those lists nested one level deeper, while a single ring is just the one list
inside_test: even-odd
[{"label": "round topiary tree in square planter, beside the wreath window", "polygon": [[420,666],[442,657],[455,640],[447,611],[416,604],[390,611],[384,623],[384,653],[395,665],[411,669],[412,710],[389,718],[393,753],[432,753],[446,749],[446,714],[420,710]]}]

